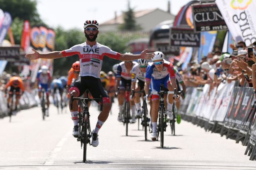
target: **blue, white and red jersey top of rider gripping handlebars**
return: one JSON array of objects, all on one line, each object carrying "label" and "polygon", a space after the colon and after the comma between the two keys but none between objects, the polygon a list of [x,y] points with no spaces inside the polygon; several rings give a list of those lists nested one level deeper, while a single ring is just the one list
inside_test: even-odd
[{"label": "blue, white and red jersey top of rider gripping handlebars", "polygon": [[151,81],[151,78],[158,80],[170,76],[170,79],[175,78],[173,65],[166,60],[163,60],[163,70],[160,72],[156,69],[154,63],[148,63],[146,81]]}]

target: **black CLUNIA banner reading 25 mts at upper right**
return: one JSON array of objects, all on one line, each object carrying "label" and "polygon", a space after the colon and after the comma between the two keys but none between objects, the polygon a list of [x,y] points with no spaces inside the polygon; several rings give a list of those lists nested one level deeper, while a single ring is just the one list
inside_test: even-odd
[{"label": "black CLUNIA banner reading 25 mts at upper right", "polygon": [[198,31],[218,31],[228,29],[219,8],[213,3],[193,4],[193,24],[194,30]]}]

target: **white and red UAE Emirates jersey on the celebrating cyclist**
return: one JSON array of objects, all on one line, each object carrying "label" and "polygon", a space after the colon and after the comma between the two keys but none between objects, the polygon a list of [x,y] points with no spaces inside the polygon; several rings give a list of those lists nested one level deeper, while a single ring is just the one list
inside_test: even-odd
[{"label": "white and red UAE Emirates jersey on the celebrating cyclist", "polygon": [[109,47],[96,43],[91,47],[86,42],[75,45],[61,52],[63,57],[78,54],[80,58],[80,76],[93,76],[100,78],[100,71],[104,56],[119,60],[120,53],[112,51]]}]

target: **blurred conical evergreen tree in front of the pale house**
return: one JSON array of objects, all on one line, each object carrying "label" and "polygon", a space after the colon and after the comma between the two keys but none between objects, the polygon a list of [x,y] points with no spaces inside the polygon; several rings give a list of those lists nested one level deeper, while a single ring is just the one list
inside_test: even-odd
[{"label": "blurred conical evergreen tree in front of the pale house", "polygon": [[134,9],[130,7],[130,1],[128,1],[128,9],[123,12],[124,24],[120,25],[122,31],[135,31],[141,29],[139,25],[136,25]]}]

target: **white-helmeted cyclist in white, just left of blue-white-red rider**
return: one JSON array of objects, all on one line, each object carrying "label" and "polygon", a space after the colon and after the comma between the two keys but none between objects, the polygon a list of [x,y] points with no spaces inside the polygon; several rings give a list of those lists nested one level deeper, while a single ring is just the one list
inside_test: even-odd
[{"label": "white-helmeted cyclist in white, just left of blue-white-red rider", "polygon": [[[132,68],[132,89],[136,92],[144,90],[145,76],[148,67],[148,60],[139,59],[138,64]],[[134,103],[136,106],[136,117],[141,118],[140,94],[134,93]],[[141,95],[143,97],[143,95]]]}]

